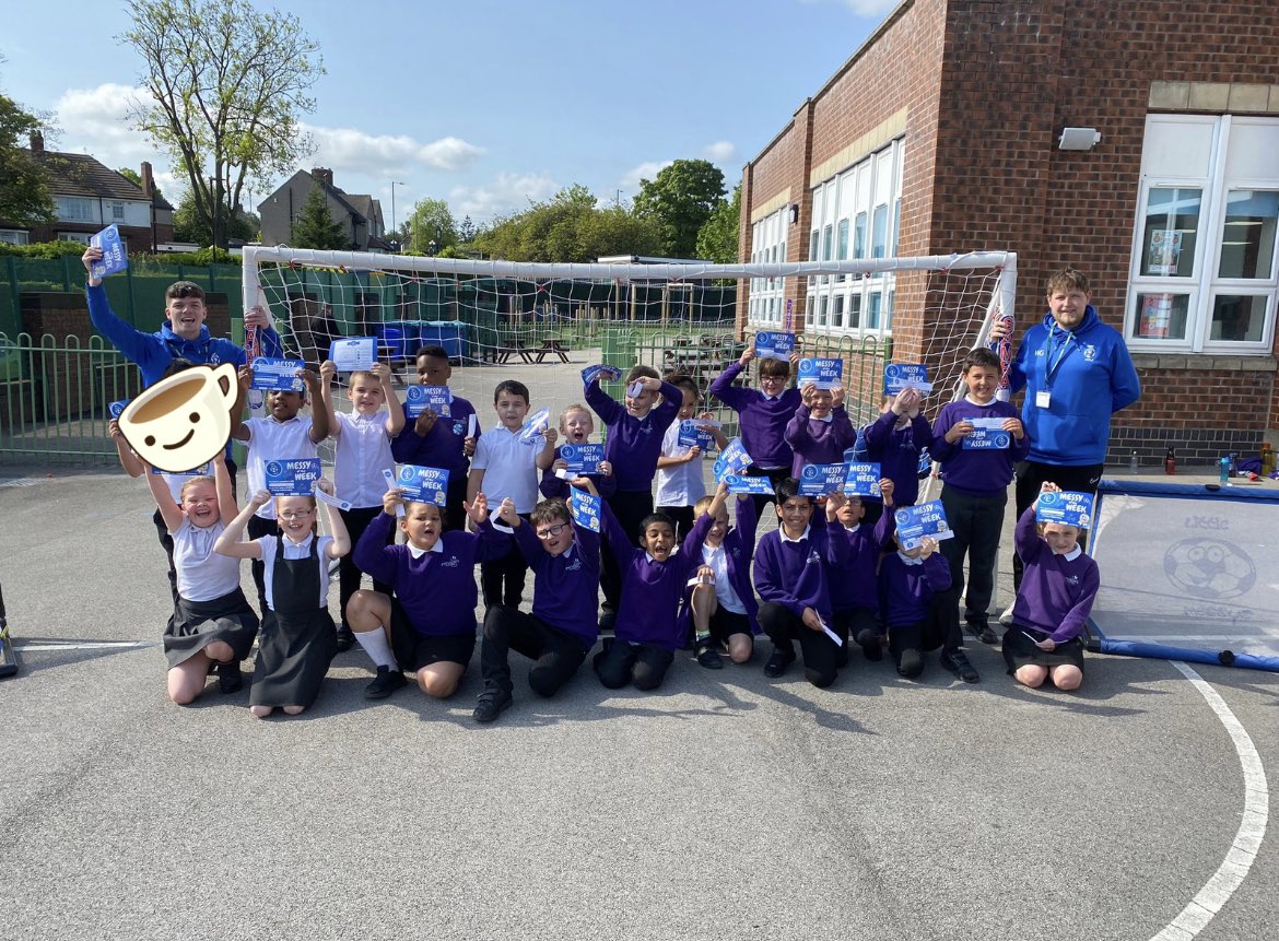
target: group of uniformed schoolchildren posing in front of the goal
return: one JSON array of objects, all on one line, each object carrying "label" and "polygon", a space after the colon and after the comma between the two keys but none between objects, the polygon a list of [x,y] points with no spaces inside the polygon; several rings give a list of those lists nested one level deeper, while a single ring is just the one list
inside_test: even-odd
[{"label": "group of uniformed schoolchildren posing in front of the goal", "polygon": [[[744,473],[767,477],[773,488],[737,495],[735,524],[728,483],[707,494],[701,449],[680,441],[680,422],[692,421],[702,422],[697,427],[718,447],[728,444],[711,414],[698,412],[701,390],[688,376],[661,378],[646,366],[625,376],[623,401],[595,375],[585,385],[586,404],[567,408],[558,430],[546,427],[532,444],[528,389],[515,380],[498,384],[498,423],[480,433],[475,408],[458,395],[448,414],[426,408],[409,418],[381,363],[349,375],[349,414],[335,408],[336,369],[325,362],[318,375],[303,371],[304,391],[271,390],[263,417],[240,419],[252,378],[251,367],[242,367],[231,437],[248,449],[243,510],[223,462],[211,462],[208,476],[146,473],[113,427],[127,469],[146,473],[161,542],[171,554],[170,697],[192,702],[211,674],[223,692],[240,689],[239,664],[255,637],[249,706],[258,717],[308,708],[329,661],[354,643],[376,667],[368,698],[407,685],[405,673],[427,696],[449,697],[475,652],[477,565],[486,606],[483,688],[473,713],[480,722],[513,702],[512,649],[533,661],[533,692],[550,697],[596,648],[601,630],[611,637],[592,666],[610,689],[657,688],[680,649],[691,648],[712,670],[723,669],[724,655],[746,664],[761,633],[771,641],[764,667],[770,678],[794,662],[798,641],[804,675],[817,687],[834,683],[852,644],[868,661],[888,649],[908,679],[921,675],[926,652],[940,648],[943,666],[978,681],[962,648],[959,597],[969,630],[994,643],[986,615],[993,566],[1013,464],[1027,446],[1016,409],[995,396],[998,357],[972,350],[963,372],[967,395],[945,405],[932,424],[917,390],[885,398],[883,414],[862,435],[866,458],[881,464],[883,506],[840,491],[801,492],[803,467],[843,462],[858,432],[842,390],[794,387],[785,359],[760,359],[760,387],[738,386],[753,359],[751,346],[710,386],[738,416],[752,460]],[[422,348],[416,366],[422,385],[448,386],[444,349]],[[308,401],[310,417],[302,413]],[[556,444],[587,444],[592,412],[608,430],[604,460],[574,476]],[[1012,445],[966,449],[963,439],[978,427],[973,422],[990,418],[1001,419]],[[329,499],[317,504],[315,496],[267,492],[269,462],[313,458],[330,437],[334,481],[317,485]],[[894,510],[916,502],[923,449],[941,464],[941,502],[954,537],[908,548]],[[407,500],[402,488],[388,487],[385,472],[396,462],[446,469],[445,505]],[[601,499],[600,532],[574,518],[574,488]],[[770,501],[779,525],[756,541]],[[330,502],[341,509],[330,513]],[[320,534],[321,517],[327,536]],[[1082,681],[1081,634],[1097,570],[1078,540],[1073,527],[1036,528],[1033,508],[1017,523],[1026,574],[1003,649],[1009,671],[1027,685],[1073,689]],[[240,591],[242,559],[252,560],[261,621]],[[327,609],[334,560],[338,623]],[[522,611],[528,569],[533,602]],[[365,574],[372,591],[359,587]]]}]

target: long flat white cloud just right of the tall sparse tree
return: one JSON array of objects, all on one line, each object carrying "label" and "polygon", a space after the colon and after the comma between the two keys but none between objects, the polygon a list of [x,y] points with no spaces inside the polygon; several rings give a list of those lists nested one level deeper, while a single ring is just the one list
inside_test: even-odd
[{"label": "long flat white cloud just right of the tall sparse tree", "polygon": [[462,170],[485,153],[483,147],[458,137],[421,143],[407,134],[368,134],[354,128],[324,128],[313,124],[301,127],[316,144],[316,151],[311,155],[313,166],[373,178],[411,173],[421,167]]}]

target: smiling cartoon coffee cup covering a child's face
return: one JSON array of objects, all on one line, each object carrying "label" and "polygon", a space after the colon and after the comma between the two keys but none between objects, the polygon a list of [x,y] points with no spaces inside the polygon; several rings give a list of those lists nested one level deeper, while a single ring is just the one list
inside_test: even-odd
[{"label": "smiling cartoon coffee cup covering a child's face", "polygon": [[216,458],[231,436],[235,367],[196,366],[160,380],[120,414],[120,431],[157,470],[183,473]]}]

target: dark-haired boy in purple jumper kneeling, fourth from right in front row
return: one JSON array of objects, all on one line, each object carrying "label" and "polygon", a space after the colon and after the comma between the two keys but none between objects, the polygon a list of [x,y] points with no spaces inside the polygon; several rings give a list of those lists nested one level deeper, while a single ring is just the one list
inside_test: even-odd
[{"label": "dark-haired boy in purple jumper kneeling, fourth from right in front row", "polygon": [[773,641],[764,675],[780,676],[794,662],[794,641],[803,653],[804,676],[815,687],[829,687],[839,670],[839,647],[830,629],[830,578],[848,557],[848,540],[831,538],[828,520],[844,504],[844,495],[826,497],[826,511],[813,513],[813,501],[799,494],[793,477],[776,488],[781,525],[760,540],[755,554],[755,587],[760,626]]}]

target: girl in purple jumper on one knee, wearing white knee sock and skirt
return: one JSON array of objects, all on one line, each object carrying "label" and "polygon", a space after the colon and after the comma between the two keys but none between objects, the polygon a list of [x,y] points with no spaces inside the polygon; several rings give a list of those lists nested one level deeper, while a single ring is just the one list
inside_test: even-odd
[{"label": "girl in purple jumper on one knee, wearing white knee sock and skirt", "polygon": [[[386,545],[399,506],[407,542]],[[482,494],[466,509],[477,524],[489,517]],[[417,675],[427,696],[453,696],[476,647],[476,565],[505,554],[500,533],[445,532],[439,506],[405,502],[399,487],[386,491],[382,511],[356,543],[356,565],[395,593],[358,591],[347,607],[347,623],[377,667],[367,698],[403,687],[404,670]]]}]

